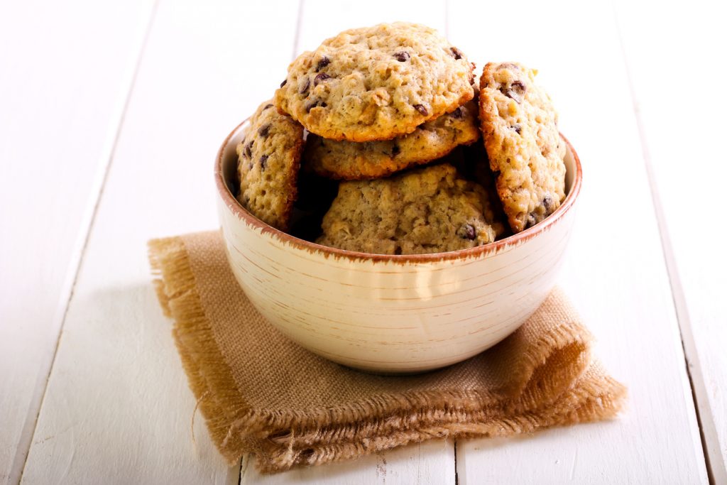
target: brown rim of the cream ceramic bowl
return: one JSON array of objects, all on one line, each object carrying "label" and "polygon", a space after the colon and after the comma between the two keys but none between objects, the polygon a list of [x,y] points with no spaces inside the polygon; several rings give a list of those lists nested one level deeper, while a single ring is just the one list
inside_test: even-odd
[{"label": "brown rim of the cream ceramic bowl", "polygon": [[563,141],[565,141],[566,145],[568,145],[571,153],[573,153],[573,159],[576,162],[576,173],[574,174],[573,187],[566,196],[566,200],[564,200],[563,204],[561,204],[561,207],[555,209],[555,212],[546,217],[545,220],[542,220],[542,222],[537,223],[531,228],[527,228],[525,231],[521,231],[513,236],[508,236],[505,239],[500,239],[499,241],[484,244],[483,246],[459,249],[459,251],[432,252],[427,254],[371,254],[368,252],[347,251],[345,249],[322,246],[321,244],[305,241],[305,239],[298,239],[295,236],[291,236],[288,233],[284,233],[283,231],[279,231],[278,229],[263,223],[260,219],[247,212],[246,209],[240,205],[237,199],[235,199],[232,193],[230,193],[230,190],[222,177],[222,155],[225,153],[225,148],[227,148],[228,143],[230,143],[230,139],[238,132],[246,121],[247,119],[245,119],[241,124],[238,124],[238,126],[230,132],[230,135],[228,135],[225,138],[225,141],[222,142],[220,150],[217,151],[217,159],[214,161],[214,182],[215,185],[217,185],[217,191],[220,193],[222,201],[225,202],[225,205],[230,208],[237,217],[244,220],[246,224],[251,225],[253,228],[260,229],[262,233],[270,233],[270,235],[276,236],[276,238],[280,241],[294,246],[296,249],[302,249],[308,252],[321,252],[326,257],[331,255],[334,257],[344,257],[349,260],[371,260],[401,264],[406,262],[459,260],[481,256],[483,254],[500,252],[502,249],[517,246],[531,238],[534,238],[539,233],[545,232],[551,225],[557,223],[558,220],[560,220],[561,217],[563,217],[563,215],[565,215],[566,212],[573,207],[573,204],[581,191],[583,179],[581,161],[578,158],[578,153],[574,150],[573,145],[571,145],[568,139],[561,133],[561,138],[563,138]]}]

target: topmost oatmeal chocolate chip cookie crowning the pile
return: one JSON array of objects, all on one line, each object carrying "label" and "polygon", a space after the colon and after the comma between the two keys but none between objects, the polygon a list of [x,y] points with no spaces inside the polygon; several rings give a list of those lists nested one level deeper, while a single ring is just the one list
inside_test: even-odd
[{"label": "topmost oatmeal chocolate chip cookie crowning the pile", "polygon": [[474,96],[473,64],[424,25],[344,31],[288,67],[275,103],[316,135],[390,140]]}]

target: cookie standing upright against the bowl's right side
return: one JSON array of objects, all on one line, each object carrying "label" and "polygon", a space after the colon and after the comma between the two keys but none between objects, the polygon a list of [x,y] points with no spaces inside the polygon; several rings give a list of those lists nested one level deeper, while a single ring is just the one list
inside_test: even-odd
[{"label": "cookie standing upright against the bowl's right side", "polygon": [[566,145],[537,71],[488,63],[480,79],[480,120],[497,193],[513,232],[552,214],[565,198]]}]

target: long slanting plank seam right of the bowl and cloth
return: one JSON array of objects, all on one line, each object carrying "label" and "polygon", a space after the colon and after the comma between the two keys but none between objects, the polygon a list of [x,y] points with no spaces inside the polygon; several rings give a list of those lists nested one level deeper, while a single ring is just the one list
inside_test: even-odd
[{"label": "long slanting plank seam right of the bowl and cloth", "polygon": [[[702,368],[699,364],[699,355],[696,351],[694,335],[691,332],[691,319],[689,317],[689,312],[686,305],[686,297],[684,296],[684,291],[681,285],[679,271],[676,264],[676,258],[669,236],[669,227],[667,225],[666,217],[664,217],[664,209],[662,207],[661,197],[659,196],[659,187],[656,183],[654,167],[651,164],[651,153],[648,150],[646,130],[644,129],[643,119],[641,117],[641,112],[635,93],[635,88],[631,76],[630,63],[627,57],[626,47],[624,45],[624,36],[622,34],[621,23],[619,23],[619,15],[615,3],[614,20],[616,22],[616,32],[619,36],[619,47],[624,62],[628,87],[633,104],[634,116],[641,144],[641,154],[643,157],[644,166],[646,167],[646,177],[648,179],[648,185],[651,191],[651,201],[654,207],[654,217],[656,219],[656,225],[659,228],[659,237],[662,243],[664,265],[667,268],[667,276],[669,278],[670,289],[672,292],[672,302],[675,308],[681,347],[684,353],[684,365],[689,380],[689,388],[691,390],[692,400],[694,401],[694,412],[696,414],[696,421],[699,426],[699,438],[702,442],[702,455],[704,457],[704,465],[707,470],[707,479],[709,480],[710,484],[715,484],[715,475],[724,475],[724,471],[715,470],[716,465],[714,463],[714,460],[710,460],[710,443],[706,436],[706,434],[709,433],[709,430],[707,430],[707,432],[705,433],[704,423],[704,417],[711,416],[710,404],[709,401],[707,401],[706,399],[703,400],[699,398],[700,389],[698,389],[698,386],[701,388],[702,396],[706,395],[706,390],[704,388],[704,376],[702,375]],[[713,420],[709,420],[707,425],[714,428],[715,423],[713,422]],[[716,436],[716,430],[712,431],[714,432],[710,434],[712,436]],[[718,444],[717,449],[719,449]]]}]

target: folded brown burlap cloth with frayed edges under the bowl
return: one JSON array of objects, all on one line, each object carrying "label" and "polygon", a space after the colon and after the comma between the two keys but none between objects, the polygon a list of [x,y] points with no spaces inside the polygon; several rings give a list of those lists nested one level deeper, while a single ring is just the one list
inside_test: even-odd
[{"label": "folded brown burlap cloth with frayed edges under the bowl", "polygon": [[214,444],[262,472],[320,465],[430,438],[507,436],[614,417],[626,390],[555,289],[506,340],[427,374],[384,377],[286,340],[228,268],[217,231],[150,241],[159,300]]}]

